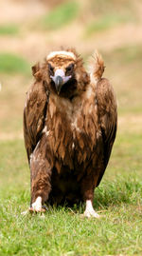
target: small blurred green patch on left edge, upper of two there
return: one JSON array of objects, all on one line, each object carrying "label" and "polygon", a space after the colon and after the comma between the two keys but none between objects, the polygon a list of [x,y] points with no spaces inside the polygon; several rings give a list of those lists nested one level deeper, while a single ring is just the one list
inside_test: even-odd
[{"label": "small blurred green patch on left edge, upper of two there", "polygon": [[0,35],[17,35],[19,33],[19,28],[16,25],[1,25]]}]

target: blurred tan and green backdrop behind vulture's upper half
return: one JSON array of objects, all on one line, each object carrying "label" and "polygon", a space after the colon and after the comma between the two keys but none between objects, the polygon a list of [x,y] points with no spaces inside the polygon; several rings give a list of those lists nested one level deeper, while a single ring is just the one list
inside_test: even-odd
[{"label": "blurred tan and green backdrop behind vulture's upper half", "polygon": [[[142,1],[0,1],[0,140],[23,138],[31,66],[50,50],[98,49],[115,88],[119,129],[142,125]],[[129,123],[129,125],[128,125]]]}]

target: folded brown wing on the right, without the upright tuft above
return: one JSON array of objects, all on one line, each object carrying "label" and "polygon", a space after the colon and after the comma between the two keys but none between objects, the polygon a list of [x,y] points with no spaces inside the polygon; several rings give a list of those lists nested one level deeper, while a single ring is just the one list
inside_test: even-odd
[{"label": "folded brown wing on the right, without the upright tuft above", "polygon": [[104,145],[104,157],[102,169],[98,177],[98,185],[104,174],[105,168],[111,155],[113,144],[115,142],[115,133],[117,128],[117,110],[114,89],[109,81],[102,78],[97,85],[98,119],[102,133]]}]

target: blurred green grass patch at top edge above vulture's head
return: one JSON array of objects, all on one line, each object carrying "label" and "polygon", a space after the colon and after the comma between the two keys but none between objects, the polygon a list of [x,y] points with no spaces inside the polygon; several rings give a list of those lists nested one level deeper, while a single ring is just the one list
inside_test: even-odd
[{"label": "blurred green grass patch at top edge above vulture's head", "polygon": [[58,30],[75,19],[78,14],[78,3],[66,2],[44,15],[41,26],[45,30]]}]

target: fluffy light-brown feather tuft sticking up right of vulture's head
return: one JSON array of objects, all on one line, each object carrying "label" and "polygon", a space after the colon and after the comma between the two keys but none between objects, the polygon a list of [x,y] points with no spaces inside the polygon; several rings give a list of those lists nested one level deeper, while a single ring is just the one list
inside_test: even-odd
[{"label": "fluffy light-brown feather tuft sticking up right of vulture's head", "polygon": [[101,55],[98,53],[98,50],[95,51],[92,57],[93,59],[91,60],[91,73],[96,81],[98,81],[100,80],[105,69],[104,62]]}]

